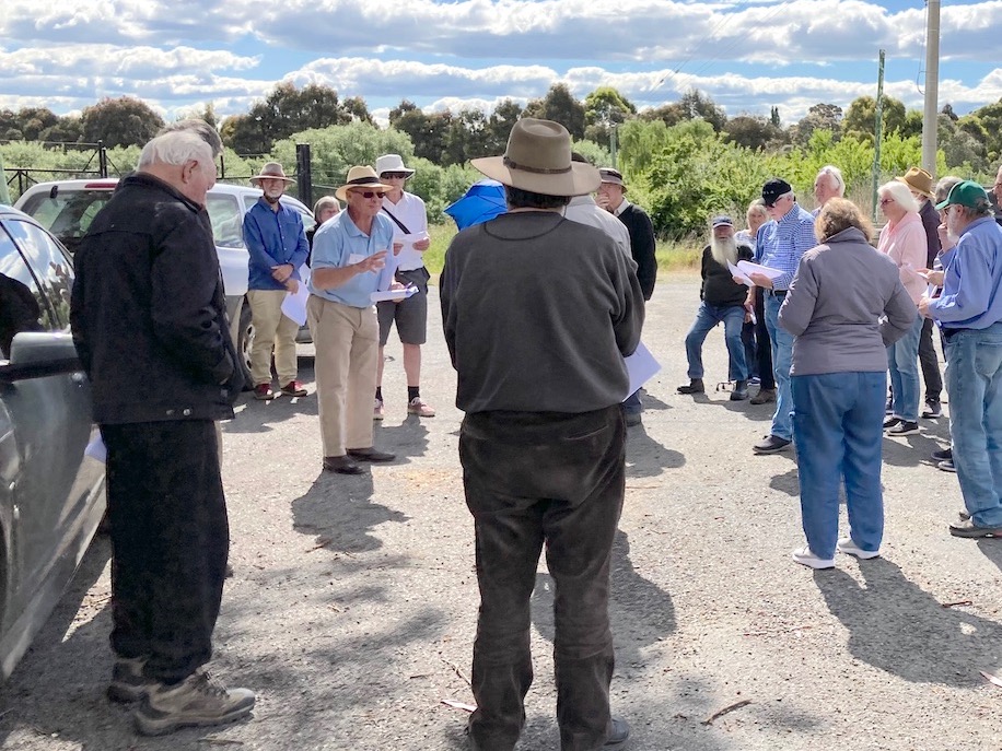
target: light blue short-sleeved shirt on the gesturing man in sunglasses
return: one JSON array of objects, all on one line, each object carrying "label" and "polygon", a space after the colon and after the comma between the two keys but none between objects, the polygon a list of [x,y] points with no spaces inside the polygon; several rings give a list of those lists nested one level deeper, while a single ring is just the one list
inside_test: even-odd
[{"label": "light blue short-sleeved shirt on the gesturing man in sunglasses", "polygon": [[[387,251],[387,259],[393,256],[393,222],[381,214],[372,220],[372,234],[366,235],[348,215],[341,211],[324,222],[313,236],[313,259],[311,268],[329,269],[349,265],[352,255],[369,257],[380,250]],[[380,284],[378,271],[365,271],[356,274],[341,286],[330,290],[317,290],[310,280],[310,292],[350,307],[366,308],[372,305],[370,295]]]}]

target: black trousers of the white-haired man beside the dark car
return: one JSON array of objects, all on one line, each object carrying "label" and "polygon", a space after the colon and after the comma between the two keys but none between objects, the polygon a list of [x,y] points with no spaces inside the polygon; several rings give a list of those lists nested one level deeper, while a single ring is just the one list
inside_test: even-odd
[{"label": "black trousers of the white-haired man beside the dark car", "polygon": [[162,683],[212,655],[230,530],[211,420],[102,425],[108,449],[112,648]]}]

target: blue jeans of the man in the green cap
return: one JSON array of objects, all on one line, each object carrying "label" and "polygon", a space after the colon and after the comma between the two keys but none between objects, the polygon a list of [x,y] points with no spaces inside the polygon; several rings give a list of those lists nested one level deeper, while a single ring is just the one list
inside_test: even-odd
[{"label": "blue jeans of the man in the green cap", "polygon": [[1002,527],[1002,321],[949,336],[946,390],[964,505],[979,527]]}]

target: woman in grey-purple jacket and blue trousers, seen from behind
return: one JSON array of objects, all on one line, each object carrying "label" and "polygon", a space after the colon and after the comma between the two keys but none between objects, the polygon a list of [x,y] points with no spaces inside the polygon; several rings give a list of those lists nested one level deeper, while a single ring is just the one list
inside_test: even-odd
[{"label": "woman in grey-purple jacket and blue trousers, seen from behind", "polygon": [[[897,266],[870,245],[872,233],[851,201],[829,200],[815,221],[822,244],[801,258],[779,312],[794,337],[793,441],[807,537],[793,560],[812,568],[835,566],[836,548],[875,558],[884,533],[885,347],[910,330],[917,310]],[[839,539],[843,482],[849,536]]]}]

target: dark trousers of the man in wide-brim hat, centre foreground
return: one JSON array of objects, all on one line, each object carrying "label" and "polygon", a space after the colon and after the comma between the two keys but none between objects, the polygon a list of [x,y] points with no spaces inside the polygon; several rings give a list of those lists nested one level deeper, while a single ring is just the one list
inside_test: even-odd
[{"label": "dark trousers of the man in wide-brim hat, centre foreground", "polygon": [[563,751],[592,751],[611,728],[609,560],[622,511],[626,423],[594,412],[479,412],[459,433],[476,529],[480,614],[469,720],[478,751],[511,751],[533,682],[529,598],[546,545],[555,584],[554,661]]}]

